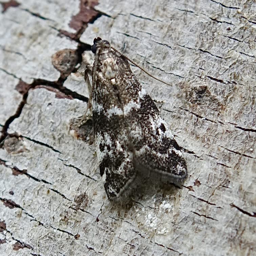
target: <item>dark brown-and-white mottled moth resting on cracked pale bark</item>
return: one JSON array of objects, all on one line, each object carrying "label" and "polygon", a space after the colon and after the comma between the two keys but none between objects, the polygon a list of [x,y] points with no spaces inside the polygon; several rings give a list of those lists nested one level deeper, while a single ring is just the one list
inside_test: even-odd
[{"label": "dark brown-and-white mottled moth resting on cracked pale bark", "polygon": [[92,114],[108,198],[120,197],[142,170],[184,180],[187,167],[180,147],[127,58],[99,37],[91,50],[95,59],[88,85],[88,116]]}]

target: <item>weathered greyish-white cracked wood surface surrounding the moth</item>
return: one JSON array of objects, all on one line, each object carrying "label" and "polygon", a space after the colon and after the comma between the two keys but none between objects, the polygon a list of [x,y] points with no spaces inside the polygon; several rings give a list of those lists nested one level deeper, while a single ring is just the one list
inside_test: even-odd
[{"label": "weathered greyish-white cracked wood surface surrounding the moth", "polygon": [[[0,254],[255,255],[255,1],[19,3],[0,15]],[[83,67],[66,77],[51,59],[77,49],[81,64],[96,36],[173,84],[133,68],[164,101],[183,186],[107,199],[94,145],[70,130]]]}]

